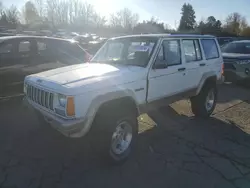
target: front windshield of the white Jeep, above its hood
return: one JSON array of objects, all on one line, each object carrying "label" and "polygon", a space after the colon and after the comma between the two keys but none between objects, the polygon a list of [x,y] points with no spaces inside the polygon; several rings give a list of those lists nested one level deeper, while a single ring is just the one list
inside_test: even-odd
[{"label": "front windshield of the white Jeep, above its hood", "polygon": [[158,38],[126,37],[108,40],[91,62],[146,67]]}]

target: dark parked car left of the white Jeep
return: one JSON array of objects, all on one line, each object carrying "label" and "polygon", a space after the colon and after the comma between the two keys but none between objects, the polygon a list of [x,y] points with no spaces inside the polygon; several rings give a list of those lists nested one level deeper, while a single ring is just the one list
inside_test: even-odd
[{"label": "dark parked car left of the white Jeep", "polygon": [[81,64],[90,54],[76,42],[35,36],[0,38],[0,98],[22,93],[26,75]]}]

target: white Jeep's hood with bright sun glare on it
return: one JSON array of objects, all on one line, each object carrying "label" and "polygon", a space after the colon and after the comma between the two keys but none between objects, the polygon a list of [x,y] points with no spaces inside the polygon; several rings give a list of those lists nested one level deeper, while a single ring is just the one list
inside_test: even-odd
[{"label": "white Jeep's hood with bright sun glare on it", "polygon": [[[32,82],[40,79],[43,81],[42,85],[49,86],[51,89],[58,88],[58,86],[60,88],[80,88],[77,92],[79,93],[82,87],[85,87],[84,91],[100,89],[110,85],[133,82],[143,75],[146,75],[146,69],[142,67],[84,63],[33,74],[27,79]],[[62,90],[61,92],[65,93]]]}]

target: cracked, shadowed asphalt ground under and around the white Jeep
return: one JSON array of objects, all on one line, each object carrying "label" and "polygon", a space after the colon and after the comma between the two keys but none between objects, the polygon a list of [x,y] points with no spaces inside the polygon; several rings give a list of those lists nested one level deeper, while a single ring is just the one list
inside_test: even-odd
[{"label": "cracked, shadowed asphalt ground under and around the white Jeep", "polygon": [[0,103],[0,187],[249,188],[250,89],[220,86],[207,120],[179,101],[139,117],[136,153],[121,166],[88,143],[42,131],[32,112]]}]

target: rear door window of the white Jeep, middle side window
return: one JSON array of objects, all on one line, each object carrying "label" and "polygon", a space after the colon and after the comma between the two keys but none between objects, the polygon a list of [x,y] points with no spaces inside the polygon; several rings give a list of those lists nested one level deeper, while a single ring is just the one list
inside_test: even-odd
[{"label": "rear door window of the white Jeep, middle side window", "polygon": [[201,49],[198,40],[183,40],[183,49],[186,62],[200,61]]}]

